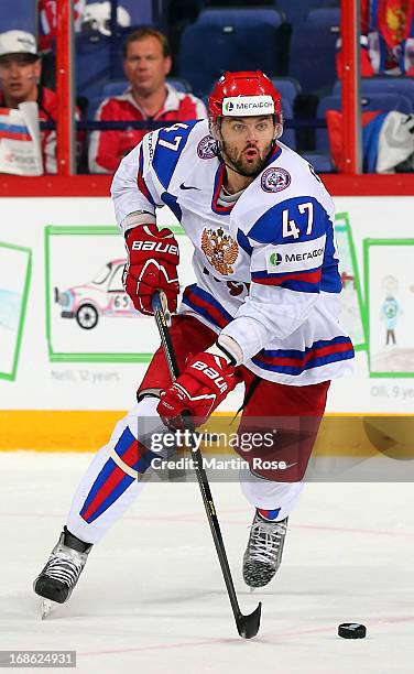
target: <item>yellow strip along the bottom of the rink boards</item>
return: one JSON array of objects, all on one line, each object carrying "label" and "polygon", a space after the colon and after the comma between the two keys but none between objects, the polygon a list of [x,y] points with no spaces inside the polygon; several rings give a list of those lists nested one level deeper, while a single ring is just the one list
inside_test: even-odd
[{"label": "yellow strip along the bottom of the rink boards", "polygon": [[[95,452],[105,445],[123,411],[0,411],[0,450]],[[231,413],[216,413],[208,431],[229,433]],[[370,424],[367,435],[367,422]],[[237,424],[230,426],[236,431]],[[326,414],[314,454],[373,456],[381,452],[414,458],[414,415]],[[227,448],[203,447],[204,453],[228,454]],[[391,454],[390,454],[391,453]]]}]

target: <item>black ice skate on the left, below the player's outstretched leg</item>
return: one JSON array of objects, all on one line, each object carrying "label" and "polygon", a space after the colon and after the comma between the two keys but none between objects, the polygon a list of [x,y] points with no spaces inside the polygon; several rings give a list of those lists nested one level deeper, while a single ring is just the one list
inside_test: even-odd
[{"label": "black ice skate on the left, below the player's outstretched leg", "polygon": [[33,589],[42,598],[42,618],[45,618],[53,602],[64,604],[70,597],[88,558],[91,544],[84,543],[66,526],[53,548],[41,574],[33,583]]}]

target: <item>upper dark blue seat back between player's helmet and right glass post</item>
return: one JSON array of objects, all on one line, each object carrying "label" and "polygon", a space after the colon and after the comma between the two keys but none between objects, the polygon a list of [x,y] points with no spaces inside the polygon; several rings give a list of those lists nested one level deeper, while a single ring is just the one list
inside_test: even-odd
[{"label": "upper dark blue seat back between player's helmet and right glass post", "polygon": [[292,33],[290,70],[305,94],[327,94],[336,80],[340,10],[312,10]]}]

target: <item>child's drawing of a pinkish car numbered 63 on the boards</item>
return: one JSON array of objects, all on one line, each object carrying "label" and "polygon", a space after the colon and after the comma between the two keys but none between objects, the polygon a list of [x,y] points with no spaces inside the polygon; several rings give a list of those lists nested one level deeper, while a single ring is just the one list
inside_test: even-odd
[{"label": "child's drawing of a pinkish car numbered 63 on the boards", "polygon": [[59,292],[55,287],[55,302],[62,307],[62,318],[76,318],[79,327],[90,330],[99,316],[138,316],[123,290],[122,272],[126,260],[107,262],[95,279]]}]

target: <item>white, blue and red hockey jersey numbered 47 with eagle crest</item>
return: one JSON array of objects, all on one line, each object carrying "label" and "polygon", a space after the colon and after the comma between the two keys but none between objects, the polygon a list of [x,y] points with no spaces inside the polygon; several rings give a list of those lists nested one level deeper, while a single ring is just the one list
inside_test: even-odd
[{"label": "white, blue and red hockey jersey numbered 47 with eagle crest", "polygon": [[179,313],[236,339],[254,373],[305,385],[350,371],[334,203],[323,183],[283,143],[228,207],[224,172],[206,120],[151,132],[113,177],[117,221],[127,230],[171,208],[194,244],[197,279]]}]

